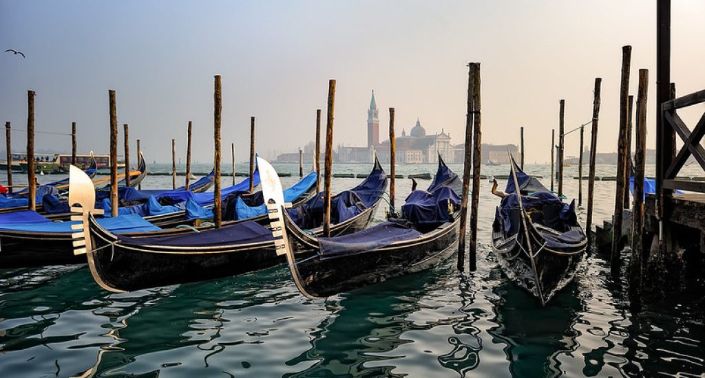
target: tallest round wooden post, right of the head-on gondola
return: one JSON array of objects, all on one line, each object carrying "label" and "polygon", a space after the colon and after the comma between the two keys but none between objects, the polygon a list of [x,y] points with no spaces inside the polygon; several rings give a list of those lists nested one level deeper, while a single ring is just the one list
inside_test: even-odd
[{"label": "tallest round wooden post, right of the head-on gondola", "polygon": [[627,106],[629,101],[629,70],[632,59],[632,46],[622,47],[622,82],[620,88],[619,135],[617,149],[617,188],[615,193],[615,214],[612,222],[612,272],[616,273],[622,251],[622,218],[624,212],[625,168],[627,166]]}]

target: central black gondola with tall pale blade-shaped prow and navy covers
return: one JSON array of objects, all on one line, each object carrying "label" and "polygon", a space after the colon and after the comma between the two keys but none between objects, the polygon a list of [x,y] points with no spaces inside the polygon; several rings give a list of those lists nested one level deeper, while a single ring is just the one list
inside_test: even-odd
[{"label": "central black gondola with tall pale blade-shaped prow and navy covers", "polygon": [[[271,169],[259,160],[260,169]],[[462,182],[439,158],[428,191],[412,191],[399,218],[360,232],[315,237],[284,211],[281,183],[263,180],[272,235],[284,251],[295,284],[309,298],[325,298],[361,286],[408,275],[440,263],[458,247]],[[295,255],[295,248],[309,253]],[[308,257],[307,255],[311,255]]]}]

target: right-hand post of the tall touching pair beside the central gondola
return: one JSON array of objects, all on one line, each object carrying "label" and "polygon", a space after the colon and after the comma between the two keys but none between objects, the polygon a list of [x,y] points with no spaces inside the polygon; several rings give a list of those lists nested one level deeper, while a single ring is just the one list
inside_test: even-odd
[{"label": "right-hand post of the tall touching pair beside the central gondola", "polygon": [[[472,90],[472,202],[470,208],[470,271],[477,270],[477,208],[480,201],[480,170],[482,169],[482,118],[480,101],[480,63],[473,63],[472,74],[474,89]],[[463,193],[466,196],[467,193]]]}]

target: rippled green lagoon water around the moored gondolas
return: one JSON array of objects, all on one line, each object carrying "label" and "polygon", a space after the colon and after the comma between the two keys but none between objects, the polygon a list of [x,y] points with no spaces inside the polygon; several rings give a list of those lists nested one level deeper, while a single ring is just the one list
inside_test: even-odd
[{"label": "rippled green lagoon water around the moored gondolas", "polygon": [[[167,170],[153,170],[159,168]],[[462,171],[460,165],[451,168]],[[508,166],[482,169],[485,175],[508,173]],[[529,165],[527,172],[549,177],[548,169]],[[566,170],[566,177],[576,175],[577,168]],[[598,175],[613,170],[601,166]],[[433,165],[398,167],[405,175],[434,171]],[[283,178],[283,184],[296,179]],[[336,179],[333,188],[359,181]],[[477,272],[460,273],[448,260],[326,301],[300,296],[286,267],[129,294],[99,289],[80,265],[0,270],[0,376],[705,375],[704,317],[692,304],[701,294],[671,297],[634,316],[624,283],[611,279],[606,262],[593,257],[542,308],[503,276],[491,253],[497,201],[489,180],[481,184]],[[596,222],[612,212],[614,185],[596,182]],[[166,186],[171,177],[149,177],[143,185]],[[565,187],[577,196],[577,180],[565,179]],[[398,179],[397,193],[409,191],[410,180]],[[584,194],[587,204],[587,183]],[[383,214],[380,209],[378,218]]]}]

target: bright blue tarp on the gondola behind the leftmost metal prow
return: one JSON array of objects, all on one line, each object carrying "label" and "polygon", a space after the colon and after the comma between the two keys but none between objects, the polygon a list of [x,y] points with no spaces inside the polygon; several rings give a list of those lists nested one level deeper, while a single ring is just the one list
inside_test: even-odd
[{"label": "bright blue tarp on the gondola behind the leftmost metal prow", "polygon": [[[71,234],[75,230],[71,225],[78,225],[78,221],[72,222],[51,222],[34,211],[23,211],[23,218],[27,222],[7,222],[6,218],[0,218],[0,229],[24,231],[24,232],[52,232],[58,234]],[[30,214],[34,213],[34,214]],[[43,220],[42,220],[43,218]],[[123,215],[116,218],[102,218],[98,224],[108,229],[110,232],[152,232],[159,231],[159,227],[152,225],[142,219],[139,215]]]}]

